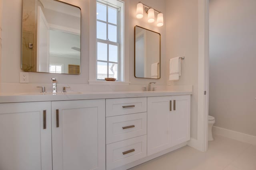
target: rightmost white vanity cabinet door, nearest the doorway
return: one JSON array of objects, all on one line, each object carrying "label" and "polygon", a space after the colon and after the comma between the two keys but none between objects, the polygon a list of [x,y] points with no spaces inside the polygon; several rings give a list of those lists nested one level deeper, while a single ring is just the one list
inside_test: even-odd
[{"label": "rightmost white vanity cabinet door, nearest the doorway", "polygon": [[170,112],[170,135],[172,146],[190,140],[190,96],[173,96]]}]

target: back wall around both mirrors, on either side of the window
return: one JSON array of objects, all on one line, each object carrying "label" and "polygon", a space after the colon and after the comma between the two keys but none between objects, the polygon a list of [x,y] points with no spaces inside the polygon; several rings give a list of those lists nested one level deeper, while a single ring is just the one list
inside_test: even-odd
[{"label": "back wall around both mirrors, on either side of the window", "polygon": [[[89,80],[89,4],[95,3],[94,0],[63,0],[64,2],[79,6],[82,13],[81,22],[81,74],[80,75],[64,75],[64,74],[47,74],[29,72],[30,83],[50,83],[52,77],[56,77],[61,84],[72,82],[74,84],[88,84]],[[165,58],[165,25],[157,27],[155,23],[148,23],[146,16],[139,20],[136,18],[136,4],[137,0],[124,0],[126,6],[125,18],[125,43],[126,43],[126,74],[128,75],[128,82],[130,84],[148,84],[152,79],[141,79],[134,77],[134,26],[140,25],[153,31],[161,33],[161,79],[156,80],[157,85],[166,85],[166,61]],[[160,10],[165,15],[165,1],[166,0],[147,0],[145,3]],[[3,0],[3,47],[2,47],[2,83],[19,83],[20,61],[21,61],[21,24],[22,24],[22,0]],[[164,18],[165,19],[165,18]],[[12,21],[12,22],[10,22]],[[90,42],[91,43],[91,42]],[[128,44],[128,45],[127,45]]]}]

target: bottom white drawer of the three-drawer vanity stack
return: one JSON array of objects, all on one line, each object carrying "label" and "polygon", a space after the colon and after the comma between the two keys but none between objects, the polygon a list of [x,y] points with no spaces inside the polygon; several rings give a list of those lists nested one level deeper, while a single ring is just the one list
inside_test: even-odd
[{"label": "bottom white drawer of the three-drawer vanity stack", "polygon": [[106,169],[112,170],[147,156],[147,135],[106,145]]}]

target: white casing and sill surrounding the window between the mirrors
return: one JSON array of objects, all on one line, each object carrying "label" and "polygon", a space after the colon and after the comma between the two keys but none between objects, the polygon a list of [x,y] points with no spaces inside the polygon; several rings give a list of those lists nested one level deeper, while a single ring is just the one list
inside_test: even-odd
[{"label": "white casing and sill surrounding the window between the mirrors", "polygon": [[[121,23],[120,27],[121,30],[121,35],[120,35],[120,66],[122,65],[123,69],[121,69],[120,74],[123,75],[123,80],[121,81],[115,81],[115,82],[108,82],[105,80],[97,80],[97,57],[96,57],[96,1],[95,0],[90,0],[90,20],[89,20],[89,28],[90,28],[90,33],[89,33],[89,84],[130,84],[129,82],[129,31],[125,31],[125,26],[124,25],[129,25],[128,19],[125,21],[124,20],[124,14],[126,14],[127,18],[129,18],[129,13],[128,13],[128,6],[125,6],[125,1],[120,1],[120,0],[108,0],[109,2],[116,2],[120,3],[123,5],[123,10],[120,10],[120,17],[121,17]],[[120,4],[117,4],[118,6]],[[127,30],[129,30],[127,28]],[[124,38],[126,37],[126,39]],[[126,63],[126,64],[125,64]]]}]

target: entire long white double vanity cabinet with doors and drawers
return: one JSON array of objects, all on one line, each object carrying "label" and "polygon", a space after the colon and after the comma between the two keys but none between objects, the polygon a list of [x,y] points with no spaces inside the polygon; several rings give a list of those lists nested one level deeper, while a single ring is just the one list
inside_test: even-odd
[{"label": "entire long white double vanity cabinet with doors and drawers", "polygon": [[190,95],[169,93],[7,96],[16,103],[0,103],[0,170],[123,170],[185,146]]}]

